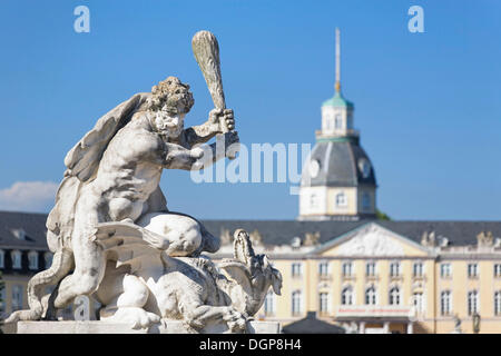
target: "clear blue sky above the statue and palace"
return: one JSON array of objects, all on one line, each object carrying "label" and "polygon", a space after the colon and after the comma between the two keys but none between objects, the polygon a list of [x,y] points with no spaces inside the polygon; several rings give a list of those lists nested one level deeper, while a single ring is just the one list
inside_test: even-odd
[{"label": "clear blue sky above the statue and palace", "polygon": [[[90,9],[90,33],[73,9]],[[407,9],[424,9],[424,33]],[[59,182],[66,152],[96,120],[167,76],[191,86],[187,123],[212,109],[193,34],[220,46],[226,99],[244,144],[314,142],[333,95],[334,29],[342,83],[395,219],[501,219],[501,2],[0,2],[0,189]],[[286,184],[196,185],[166,171],[169,208],[199,218],[293,219]],[[28,210],[49,210],[28,206]],[[3,207],[4,208],[4,207]]]}]

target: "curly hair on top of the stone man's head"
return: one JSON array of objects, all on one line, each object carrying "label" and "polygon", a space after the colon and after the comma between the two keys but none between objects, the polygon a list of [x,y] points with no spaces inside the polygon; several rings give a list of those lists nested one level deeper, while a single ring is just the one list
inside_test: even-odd
[{"label": "curly hair on top of the stone man's head", "polygon": [[150,110],[158,111],[166,103],[169,111],[186,113],[191,109],[195,100],[189,86],[183,83],[176,77],[168,77],[151,88],[151,98],[149,99]]}]

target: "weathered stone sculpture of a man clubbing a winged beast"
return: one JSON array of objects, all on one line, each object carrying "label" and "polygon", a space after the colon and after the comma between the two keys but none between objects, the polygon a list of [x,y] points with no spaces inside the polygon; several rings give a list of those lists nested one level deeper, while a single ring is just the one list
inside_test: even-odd
[{"label": "weathered stone sculpture of a man clubbing a winged beast", "polygon": [[[215,37],[198,32],[194,51],[217,102],[207,121],[184,128],[194,99],[176,77],[97,121],[65,158],[67,170],[47,219],[52,266],[29,281],[30,309],[13,313],[8,323],[53,319],[77,296],[95,295],[104,305],[102,322],[146,328],[181,319],[195,332],[215,323],[242,332],[269,286],[279,293],[279,273],[254,255],[243,230],[235,233],[235,260],[216,265],[202,257],[217,251],[220,239],[195,218],[169,211],[159,188],[164,169],[203,169],[233,158],[238,148]],[[203,145],[216,135],[223,150]]]}]

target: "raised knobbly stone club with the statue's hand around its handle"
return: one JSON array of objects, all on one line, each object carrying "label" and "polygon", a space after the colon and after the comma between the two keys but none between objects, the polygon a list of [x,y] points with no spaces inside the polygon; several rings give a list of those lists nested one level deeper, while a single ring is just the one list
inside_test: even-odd
[{"label": "raised knobbly stone club with the statue's hand around its handle", "polygon": [[[233,111],[226,109],[220,76],[219,44],[216,37],[209,31],[198,31],[193,37],[191,48],[213,98],[214,107],[220,112],[219,126],[223,134],[234,131]],[[234,154],[236,152],[229,154],[228,158],[234,159]]]}]

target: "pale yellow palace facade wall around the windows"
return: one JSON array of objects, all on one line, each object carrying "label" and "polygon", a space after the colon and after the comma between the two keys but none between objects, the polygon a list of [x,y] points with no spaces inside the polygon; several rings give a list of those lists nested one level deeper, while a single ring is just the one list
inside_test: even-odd
[{"label": "pale yellow palace facade wall around the windows", "polygon": [[[273,258],[273,257],[272,257]],[[325,256],[327,258],[327,256]],[[379,295],[379,305],[389,304],[389,290],[394,284],[401,288],[401,305],[412,306],[413,291],[422,291],[424,296],[425,312],[419,315],[414,324],[414,333],[445,333],[454,329],[453,315],[458,315],[462,320],[464,333],[472,333],[472,318],[468,316],[468,290],[478,288],[480,291],[480,314],[481,333],[501,333],[501,316],[494,315],[493,298],[494,291],[501,290],[501,278],[494,278],[493,264],[499,259],[479,260],[479,278],[468,277],[468,263],[472,260],[448,260],[453,265],[452,277],[440,277],[440,261],[433,258],[407,257],[400,259],[401,277],[392,278],[390,276],[390,264],[393,258],[374,259],[376,261],[376,276],[367,278],[365,276],[365,264],[371,259],[352,259],[353,277],[344,278],[342,276],[342,264],[346,258],[335,258],[328,256],[325,258],[311,258],[302,260],[304,276],[293,278],[291,275],[292,264],[297,259],[275,259],[275,265],[282,270],[284,277],[283,295],[277,299],[277,314],[274,319],[279,319],[284,324],[297,320],[304,315],[292,315],[292,291],[301,289],[304,291],[304,312],[320,310],[318,294],[321,291],[330,293],[330,315],[331,319],[335,317],[333,310],[341,305],[341,290],[346,285],[352,285],[355,290],[355,304],[364,305],[365,288],[373,283],[376,286]],[[326,277],[318,275],[318,264],[328,261],[330,274]],[[413,277],[413,264],[423,263],[423,276]],[[440,315],[440,291],[451,289],[453,293],[452,314],[450,316]],[[403,324],[391,324],[391,330],[403,330]]]}]

